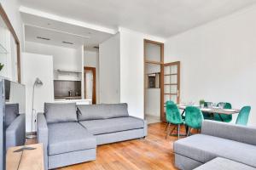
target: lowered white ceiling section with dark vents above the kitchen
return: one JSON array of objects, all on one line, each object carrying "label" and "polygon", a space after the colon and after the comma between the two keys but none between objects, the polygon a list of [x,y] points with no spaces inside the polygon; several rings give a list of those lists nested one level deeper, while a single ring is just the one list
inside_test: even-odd
[{"label": "lowered white ceiling section with dark vents above the kitchen", "polygon": [[[93,49],[113,35],[24,12],[21,12],[21,16],[25,23],[25,39],[30,42],[47,43],[67,48],[78,48],[84,45],[84,48]],[[50,40],[42,40],[37,37],[45,37]],[[63,41],[73,42],[73,44],[63,43]]]}]

